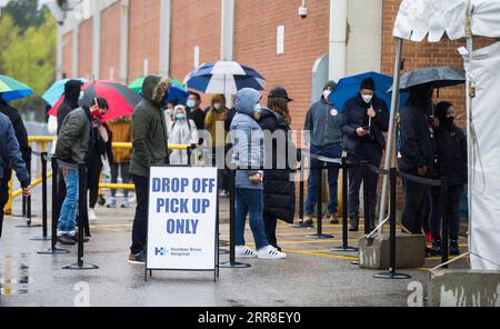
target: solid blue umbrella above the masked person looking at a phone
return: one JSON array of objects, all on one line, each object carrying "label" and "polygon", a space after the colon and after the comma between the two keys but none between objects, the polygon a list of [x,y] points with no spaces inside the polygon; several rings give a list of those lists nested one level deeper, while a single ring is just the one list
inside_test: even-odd
[{"label": "solid blue umbrella above the masked person looking at a phone", "polygon": [[[376,72],[367,72],[358,76],[346,77],[339,81],[333,92],[330,94],[330,101],[336,104],[339,112],[343,111],[343,107],[348,100],[357,97],[360,92],[361,82],[372,78],[376,82],[376,94],[379,99],[383,100],[390,111],[392,92],[387,91],[393,84],[393,78]],[[408,100],[408,93],[401,93],[400,103],[404,104]]]}]

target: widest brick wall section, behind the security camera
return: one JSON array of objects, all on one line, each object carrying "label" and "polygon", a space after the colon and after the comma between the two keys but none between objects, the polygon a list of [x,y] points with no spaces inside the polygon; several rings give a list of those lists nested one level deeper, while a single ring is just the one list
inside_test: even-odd
[{"label": "widest brick wall section, behind the security camera", "polygon": [[[282,84],[296,101],[290,104],[293,128],[303,126],[311,104],[311,70],[328,52],[329,1],[309,0],[309,17],[297,14],[300,1],[236,1],[234,58],[267,80],[267,94]],[[277,27],[284,24],[284,53],[277,54]],[[264,98],[263,103],[267,102]]]}]

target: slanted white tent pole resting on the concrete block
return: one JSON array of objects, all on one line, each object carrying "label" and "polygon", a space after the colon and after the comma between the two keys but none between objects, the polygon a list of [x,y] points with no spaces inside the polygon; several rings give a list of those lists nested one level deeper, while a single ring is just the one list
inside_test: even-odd
[{"label": "slanted white tent pole resting on the concrete block", "polygon": [[[389,170],[391,166],[396,166],[396,118],[399,112],[399,83],[401,78],[401,53],[402,53],[402,39],[397,39],[396,47],[396,62],[394,62],[394,82],[392,84],[392,101],[391,101],[391,116],[389,121],[389,136],[386,148],[386,162],[383,166],[384,170]],[[382,196],[380,200],[380,216],[379,216],[379,233],[383,232],[383,226],[381,223],[386,219],[386,202],[387,202],[387,190],[388,190],[389,177],[383,176],[382,183]]]}]

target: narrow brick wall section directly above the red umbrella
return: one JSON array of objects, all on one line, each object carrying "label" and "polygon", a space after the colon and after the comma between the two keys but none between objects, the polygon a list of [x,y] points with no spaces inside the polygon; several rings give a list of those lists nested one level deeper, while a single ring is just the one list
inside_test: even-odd
[{"label": "narrow brick wall section directly above the red umbrella", "polygon": [[120,80],[120,23],[121,3],[118,1],[101,13],[101,79]]}]

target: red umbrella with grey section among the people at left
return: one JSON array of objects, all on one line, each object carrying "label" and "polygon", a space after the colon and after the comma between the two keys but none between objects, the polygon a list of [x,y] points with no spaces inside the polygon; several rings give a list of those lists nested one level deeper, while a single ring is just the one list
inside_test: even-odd
[{"label": "red umbrella with grey section among the people at left", "polygon": [[[83,99],[80,106],[90,106],[94,98],[101,97],[108,101],[109,110],[102,121],[109,121],[133,113],[133,108],[141,100],[141,97],[123,84],[100,80],[88,82],[83,86]],[[64,101],[64,96],[50,109],[49,116],[57,117],[59,107]]]}]

